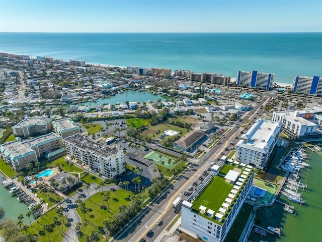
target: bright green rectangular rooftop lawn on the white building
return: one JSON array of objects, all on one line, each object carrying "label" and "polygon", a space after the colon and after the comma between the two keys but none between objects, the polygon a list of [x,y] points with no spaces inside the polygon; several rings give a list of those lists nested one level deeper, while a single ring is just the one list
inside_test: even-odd
[{"label": "bright green rectangular rooftop lawn on the white building", "polygon": [[233,185],[227,183],[225,178],[214,176],[208,187],[193,202],[193,208],[199,211],[200,205],[203,205],[207,209],[210,208],[211,210],[217,212],[232,188]]}]

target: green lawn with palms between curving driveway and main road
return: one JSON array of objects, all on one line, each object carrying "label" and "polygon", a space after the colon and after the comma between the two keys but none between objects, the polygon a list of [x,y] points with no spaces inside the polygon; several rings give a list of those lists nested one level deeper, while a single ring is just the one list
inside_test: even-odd
[{"label": "green lawn with palms between curving driveway and main road", "polygon": [[[105,192],[104,192],[105,193]],[[88,234],[92,230],[101,231],[100,241],[103,239],[103,225],[102,220],[106,219],[107,217],[113,216],[113,214],[118,213],[118,207],[122,204],[128,205],[130,204],[130,196],[132,192],[124,191],[124,190],[116,190],[114,193],[110,192],[110,199],[109,199],[109,209],[107,209],[107,202],[104,202],[105,208],[103,207],[103,201],[101,195],[99,193],[95,194],[91,197],[90,200],[86,200],[85,205],[88,208],[88,211],[85,214],[86,221],[88,221],[88,226],[82,227],[81,234],[83,236],[79,236],[79,241],[85,242]],[[77,208],[76,209],[79,216],[82,218],[82,222],[84,222],[84,214],[82,211]]]}]

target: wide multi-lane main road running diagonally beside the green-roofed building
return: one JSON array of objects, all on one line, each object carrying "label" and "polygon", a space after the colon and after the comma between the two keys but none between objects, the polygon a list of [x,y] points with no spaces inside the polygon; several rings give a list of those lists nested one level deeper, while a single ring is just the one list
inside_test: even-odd
[{"label": "wide multi-lane main road running diagonally beside the green-roofed building", "polygon": [[[265,94],[267,95],[267,93]],[[116,241],[128,242],[128,241],[138,241],[140,238],[144,237],[146,241],[153,241],[157,238],[173,221],[177,216],[174,212],[174,208],[171,207],[172,202],[177,197],[182,197],[186,199],[187,197],[183,195],[184,191],[187,190],[189,186],[193,184],[194,181],[200,182],[198,179],[202,175],[202,172],[210,165],[214,159],[224,152],[224,148],[229,145],[230,142],[235,143],[235,136],[239,136],[240,127],[250,119],[252,122],[256,112],[261,109],[261,106],[268,102],[268,98],[263,98],[260,103],[256,105],[251,111],[249,111],[245,116],[243,116],[243,122],[239,126],[234,126],[230,131],[228,131],[224,137],[221,139],[220,145],[213,146],[197,164],[190,166],[190,168],[180,177],[173,186],[173,189],[166,191],[160,199],[153,202],[146,210],[142,211],[141,216],[136,219],[132,224],[130,224],[123,233],[117,237]],[[198,183],[199,184],[199,183]],[[195,187],[194,187],[195,188]],[[162,225],[156,225],[158,219],[163,220]],[[148,238],[146,233],[152,229],[154,232],[153,238]]]}]

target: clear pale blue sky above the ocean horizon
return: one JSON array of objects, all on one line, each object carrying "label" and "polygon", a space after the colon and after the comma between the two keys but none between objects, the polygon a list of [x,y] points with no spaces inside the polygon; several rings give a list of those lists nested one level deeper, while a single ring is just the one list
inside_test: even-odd
[{"label": "clear pale blue sky above the ocean horizon", "polygon": [[321,0],[0,0],[0,31],[322,32],[321,13]]}]

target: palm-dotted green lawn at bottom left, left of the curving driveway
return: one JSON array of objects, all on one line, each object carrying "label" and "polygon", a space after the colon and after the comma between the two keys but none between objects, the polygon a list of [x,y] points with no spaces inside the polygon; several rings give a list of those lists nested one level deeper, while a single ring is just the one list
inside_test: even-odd
[{"label": "palm-dotted green lawn at bottom left, left of the curving driveway", "polygon": [[[53,217],[56,216],[58,220],[56,223],[53,221]],[[48,242],[47,233],[44,231],[44,225],[48,224],[50,226],[50,230],[48,231],[50,241],[61,241],[63,236],[61,235],[61,231],[66,232],[68,230],[67,219],[64,216],[63,221],[61,221],[55,212],[54,209],[47,212],[42,217],[38,218],[38,222],[35,221],[29,226],[27,232],[29,234],[34,234],[38,237],[39,242]]]}]

